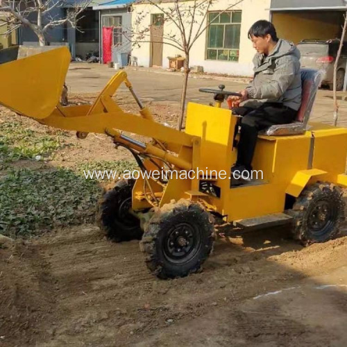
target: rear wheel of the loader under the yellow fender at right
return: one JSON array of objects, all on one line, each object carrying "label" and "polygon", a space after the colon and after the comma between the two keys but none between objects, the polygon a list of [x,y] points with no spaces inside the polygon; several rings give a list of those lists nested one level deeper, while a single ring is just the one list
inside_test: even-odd
[{"label": "rear wheel of the loader under the yellow fender at right", "polygon": [[341,188],[332,183],[315,183],[303,190],[288,214],[294,218],[294,238],[307,246],[326,242],[339,233],[345,202]]}]

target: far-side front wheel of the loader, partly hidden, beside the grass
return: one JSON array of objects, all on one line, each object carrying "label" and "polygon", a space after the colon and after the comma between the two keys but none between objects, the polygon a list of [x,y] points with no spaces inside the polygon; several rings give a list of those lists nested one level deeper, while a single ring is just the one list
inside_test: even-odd
[{"label": "far-side front wheel of the loader, partly hidden, beside the grass", "polygon": [[99,226],[115,242],[141,239],[139,219],[130,214],[135,180],[119,180],[105,193],[99,207]]}]

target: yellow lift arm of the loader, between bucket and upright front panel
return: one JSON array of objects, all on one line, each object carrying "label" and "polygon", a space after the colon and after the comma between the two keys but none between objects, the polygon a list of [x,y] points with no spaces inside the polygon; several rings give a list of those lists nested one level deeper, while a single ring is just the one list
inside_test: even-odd
[{"label": "yellow lift arm of the loader, between bucket and upright front panel", "polygon": [[[125,83],[133,94],[140,108],[140,116],[124,112],[112,99],[121,83]],[[139,153],[155,155],[180,169],[192,169],[191,162],[182,160],[169,151],[179,153],[182,146],[192,148],[194,137],[156,122],[150,110],[139,101],[124,71],[110,79],[92,105],[62,107],[58,104],[49,117],[40,119],[40,123],[65,130],[106,134],[116,143],[123,144]],[[121,134],[119,130],[151,137],[153,141],[144,144]]]}]

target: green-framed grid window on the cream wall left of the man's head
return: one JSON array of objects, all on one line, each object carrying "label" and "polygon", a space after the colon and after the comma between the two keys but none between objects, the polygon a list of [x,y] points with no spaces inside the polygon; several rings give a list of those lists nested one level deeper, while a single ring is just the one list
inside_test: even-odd
[{"label": "green-framed grid window on the cream wall left of the man's head", "polygon": [[206,59],[239,61],[241,19],[241,11],[208,14]]}]

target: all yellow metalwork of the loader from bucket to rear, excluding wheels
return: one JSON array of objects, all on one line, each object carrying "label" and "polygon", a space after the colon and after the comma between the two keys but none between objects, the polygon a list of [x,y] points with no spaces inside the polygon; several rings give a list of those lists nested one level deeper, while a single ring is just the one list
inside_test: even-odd
[{"label": "all yellow metalwork of the loader from bucket to rear, excluding wheels", "polygon": [[[236,118],[229,110],[218,103],[219,107],[189,103],[185,133],[154,121],[147,108],[142,107],[139,115],[124,112],[113,99],[121,83],[132,91],[124,71],[110,79],[92,105],[62,107],[58,99],[68,65],[65,48],[0,65],[3,81],[10,83],[6,87],[1,83],[0,103],[48,126],[108,134],[115,143],[142,156],[147,171],[165,165],[194,170],[192,178],[174,177],[167,183],[138,178],[133,189],[135,212],[187,198],[201,201],[226,221],[237,221],[283,212],[287,195],[297,197],[317,180],[347,187],[346,128],[312,123],[304,135],[260,136],[253,168],[263,176],[256,185],[234,186],[229,176],[237,156],[232,146]],[[134,142],[121,131],[151,140]],[[214,185],[219,194],[201,192],[201,181]]]}]

